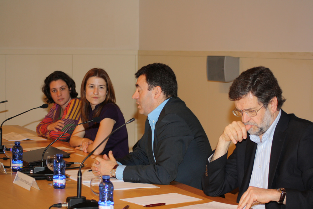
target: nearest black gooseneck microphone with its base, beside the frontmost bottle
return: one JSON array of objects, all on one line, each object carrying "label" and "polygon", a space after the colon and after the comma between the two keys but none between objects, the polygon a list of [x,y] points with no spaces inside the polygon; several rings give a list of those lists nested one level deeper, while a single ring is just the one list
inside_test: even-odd
[{"label": "nearest black gooseneck microphone with its base, beside the frontmost bottle", "polygon": [[114,131],[112,131],[109,136],[107,136],[94,150],[92,150],[87,157],[85,157],[85,159],[81,162],[80,164],[80,168],[78,170],[77,173],[77,196],[73,196],[73,197],[67,197],[66,198],[66,203],[68,205],[68,208],[70,209],[77,209],[77,208],[88,208],[88,209],[98,209],[98,202],[95,200],[86,200],[86,197],[81,196],[81,177],[82,177],[82,173],[81,173],[81,167],[83,165],[83,163],[85,162],[85,160],[87,158],[90,157],[90,155],[92,155],[96,149],[98,149],[101,144],[103,144],[111,135],[112,133],[114,133],[115,131],[117,131],[118,129],[122,128],[123,126],[125,126],[128,123],[131,123],[135,120],[135,118],[131,118],[129,121],[127,121],[126,123],[124,123],[123,125],[121,125],[120,127],[116,128]]}]

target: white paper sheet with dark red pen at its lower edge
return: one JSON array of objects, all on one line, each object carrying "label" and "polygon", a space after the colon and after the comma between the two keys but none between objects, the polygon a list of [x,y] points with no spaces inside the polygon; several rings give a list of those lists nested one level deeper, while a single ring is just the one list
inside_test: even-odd
[{"label": "white paper sheet with dark red pen at its lower edge", "polygon": [[169,194],[163,194],[163,195],[151,195],[151,196],[143,196],[143,197],[126,198],[126,199],[121,199],[121,200],[145,206],[145,205],[156,204],[156,203],[165,203],[166,205],[170,205],[170,204],[177,204],[177,203],[184,203],[184,202],[199,201],[203,199],[199,199],[199,198],[195,198],[195,197],[191,197],[187,195],[181,195],[177,193],[169,193]]}]

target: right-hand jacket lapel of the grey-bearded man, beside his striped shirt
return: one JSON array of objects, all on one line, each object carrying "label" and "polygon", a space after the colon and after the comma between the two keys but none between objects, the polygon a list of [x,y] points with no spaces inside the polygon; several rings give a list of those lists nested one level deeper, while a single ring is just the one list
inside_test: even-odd
[{"label": "right-hand jacket lapel of the grey-bearded man, beside his striped shirt", "polygon": [[281,110],[280,119],[276,125],[273,142],[272,142],[272,149],[271,149],[271,156],[269,159],[269,181],[268,181],[268,189],[272,188],[273,180],[275,177],[275,173],[277,170],[277,165],[280,159],[280,154],[283,149],[283,144],[285,142],[286,133],[285,130],[288,127],[288,123],[290,118],[288,117],[287,113]]}]

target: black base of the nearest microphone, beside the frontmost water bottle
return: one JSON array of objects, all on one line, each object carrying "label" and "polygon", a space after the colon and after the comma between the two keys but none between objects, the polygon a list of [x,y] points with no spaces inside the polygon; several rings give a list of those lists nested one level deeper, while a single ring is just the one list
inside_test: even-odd
[{"label": "black base of the nearest microphone, beside the frontmost water bottle", "polygon": [[98,209],[98,201],[95,200],[86,200],[86,197],[67,197],[66,203],[68,204],[69,209]]}]

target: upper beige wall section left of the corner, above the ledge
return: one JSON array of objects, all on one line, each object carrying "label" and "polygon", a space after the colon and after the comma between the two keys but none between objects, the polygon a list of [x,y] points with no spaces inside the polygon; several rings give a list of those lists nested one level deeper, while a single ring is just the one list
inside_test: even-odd
[{"label": "upper beige wall section left of the corner, above the ledge", "polygon": [[138,0],[0,0],[0,20],[2,49],[138,49]]}]

